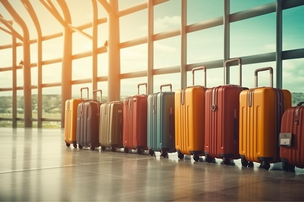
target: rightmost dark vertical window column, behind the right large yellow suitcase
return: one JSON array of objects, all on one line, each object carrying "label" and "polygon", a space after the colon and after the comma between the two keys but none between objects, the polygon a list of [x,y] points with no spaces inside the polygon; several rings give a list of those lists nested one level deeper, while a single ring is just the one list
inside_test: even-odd
[{"label": "rightmost dark vertical window column, behind the right large yellow suitcase", "polygon": [[282,89],[282,0],[276,0],[276,88]]}]

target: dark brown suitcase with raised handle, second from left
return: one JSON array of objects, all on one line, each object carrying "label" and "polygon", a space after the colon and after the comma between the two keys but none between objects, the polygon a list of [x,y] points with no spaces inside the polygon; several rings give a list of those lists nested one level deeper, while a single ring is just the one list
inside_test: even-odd
[{"label": "dark brown suitcase with raised handle, second from left", "polygon": [[[94,90],[94,93],[101,92],[101,90]],[[93,96],[94,97],[94,96]],[[90,147],[91,150],[99,147],[99,121],[100,121],[100,101],[85,100],[77,107],[77,132],[76,140],[80,149],[83,147]]]}]

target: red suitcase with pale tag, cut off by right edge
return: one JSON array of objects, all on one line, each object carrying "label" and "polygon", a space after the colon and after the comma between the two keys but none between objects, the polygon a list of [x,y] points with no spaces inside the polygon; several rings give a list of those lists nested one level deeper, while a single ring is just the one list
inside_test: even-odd
[{"label": "red suitcase with pale tag, cut off by right edge", "polygon": [[284,171],[304,168],[304,102],[288,108],[282,117],[280,157]]}]

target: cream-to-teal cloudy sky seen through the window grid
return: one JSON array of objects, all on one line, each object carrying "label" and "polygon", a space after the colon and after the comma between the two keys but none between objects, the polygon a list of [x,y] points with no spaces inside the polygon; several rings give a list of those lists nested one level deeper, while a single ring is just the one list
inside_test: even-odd
[{"label": "cream-to-teal cloudy sky seen through the window grid", "polygon": [[[119,10],[143,2],[145,0],[118,0]],[[20,0],[9,0],[14,9],[27,22],[30,39],[37,37],[34,24],[27,14]],[[52,0],[58,8],[56,1]],[[72,25],[77,27],[90,22],[92,19],[92,5],[90,0],[66,0],[70,9]],[[275,2],[275,0],[230,0],[230,13],[236,13],[242,10],[250,9],[263,4]],[[49,11],[40,3],[39,0],[31,1],[42,26],[42,34],[50,35],[63,30],[60,23],[49,13]],[[97,2],[99,18],[105,17],[105,10]],[[154,33],[180,29],[180,10],[181,0],[169,0],[165,3],[154,6]],[[60,9],[58,9],[60,12]],[[5,19],[12,19],[10,14],[0,3],[0,14]],[[188,0],[187,1],[187,24],[194,24],[209,20],[223,15],[223,0]],[[283,50],[304,48],[304,6],[283,11]],[[147,11],[140,11],[136,14],[121,17],[120,23],[120,42],[129,41],[139,37],[147,36]],[[230,24],[230,58],[244,57],[249,55],[275,52],[275,13],[258,16]],[[3,24],[0,27],[6,28]],[[21,28],[17,23],[13,23],[14,29],[22,35]],[[92,35],[92,30],[84,30]],[[107,40],[107,25],[101,25],[98,29],[98,47],[103,46]],[[0,46],[11,44],[11,36],[0,30]],[[154,42],[154,68],[164,68],[180,65],[180,36],[169,39],[158,40]],[[223,58],[223,26],[191,32],[187,34],[187,63],[208,62],[221,60]],[[43,61],[62,57],[63,39],[57,38],[44,41]],[[90,51],[92,42],[79,33],[73,33],[72,54]],[[135,47],[123,48],[120,50],[121,73],[133,71],[142,71],[147,68],[147,44]],[[0,50],[0,67],[12,65],[11,49]],[[22,60],[22,48],[17,49],[17,62]],[[36,45],[31,45],[31,62],[37,61]],[[84,58],[72,62],[72,79],[90,78],[92,70],[92,59]],[[107,54],[98,56],[98,76],[106,76]],[[253,72],[256,68],[271,66],[276,72],[275,62],[257,63],[243,65],[242,86],[253,88]],[[295,59],[283,61],[283,88],[291,92],[304,93],[304,59]],[[208,67],[207,67],[208,68]],[[32,85],[36,85],[37,68],[32,70]],[[43,83],[52,83],[61,81],[61,63],[44,65]],[[231,67],[231,83],[238,84],[238,72],[236,66]],[[223,69],[207,69],[207,87],[223,85]],[[17,86],[23,84],[22,70],[17,71]],[[203,72],[195,74],[195,84],[203,85]],[[121,80],[121,95],[134,95],[137,93],[137,83],[147,82],[147,78],[132,78]],[[0,88],[12,86],[11,71],[0,72]],[[154,76],[153,92],[159,92],[161,84],[171,83],[172,90],[180,88],[180,74],[157,75]],[[274,86],[275,86],[274,78]],[[187,86],[192,85],[191,72],[187,73]],[[259,86],[269,85],[268,73],[259,75]],[[86,84],[74,85],[72,87],[73,95],[78,95],[79,89]],[[87,86],[91,86],[88,84]],[[107,94],[107,83],[100,82],[98,88],[102,89],[104,95]],[[36,93],[33,90],[33,93]],[[60,87],[44,88],[43,93],[61,93]],[[18,92],[22,95],[22,91]],[[11,95],[11,92],[0,92],[0,96]]]}]

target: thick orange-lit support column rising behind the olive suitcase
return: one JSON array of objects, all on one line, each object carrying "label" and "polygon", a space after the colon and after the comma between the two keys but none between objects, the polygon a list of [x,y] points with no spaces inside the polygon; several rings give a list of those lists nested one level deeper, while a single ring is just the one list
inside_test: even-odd
[{"label": "thick orange-lit support column rising behind the olive suitcase", "polygon": [[108,102],[120,100],[120,49],[118,0],[109,0],[112,10],[108,13]]}]

